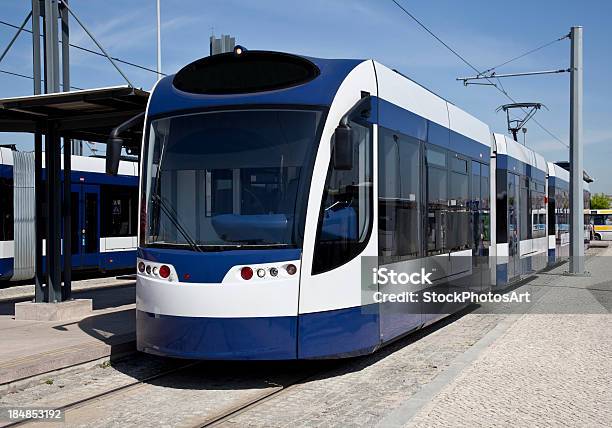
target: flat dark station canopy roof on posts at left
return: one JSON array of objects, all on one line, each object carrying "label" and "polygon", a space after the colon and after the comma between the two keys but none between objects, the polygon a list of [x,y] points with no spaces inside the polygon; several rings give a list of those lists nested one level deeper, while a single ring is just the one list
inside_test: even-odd
[{"label": "flat dark station canopy roof on posts at left", "polygon": [[[129,86],[0,99],[0,132],[47,133],[54,126],[60,137],[106,143],[112,130],[143,113],[149,93]],[[130,149],[140,147],[142,126],[123,135]]]}]

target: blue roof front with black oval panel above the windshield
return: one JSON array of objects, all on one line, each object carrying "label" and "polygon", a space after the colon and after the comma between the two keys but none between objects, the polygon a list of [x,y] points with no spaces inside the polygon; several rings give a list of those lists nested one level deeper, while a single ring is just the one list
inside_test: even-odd
[{"label": "blue roof front with black oval panel above the windshield", "polygon": [[147,115],[225,105],[329,106],[346,76],[362,62],[237,46],[234,52],[196,60],[157,82]]}]

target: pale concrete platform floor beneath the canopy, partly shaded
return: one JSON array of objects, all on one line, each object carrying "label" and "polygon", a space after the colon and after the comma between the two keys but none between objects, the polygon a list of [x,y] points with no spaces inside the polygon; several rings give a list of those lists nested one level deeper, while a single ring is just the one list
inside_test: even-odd
[{"label": "pale concrete platform floor beneath the canopy, partly shaded", "polygon": [[[14,315],[29,305],[3,302],[0,305],[0,389],[10,389],[15,383],[45,373],[133,352],[136,345],[134,296],[135,281],[118,281],[114,288],[75,292],[75,299],[85,301],[86,306],[88,303],[90,311],[79,316],[72,312],[76,318],[70,321],[15,319]],[[66,303],[83,305],[78,300]]]}]

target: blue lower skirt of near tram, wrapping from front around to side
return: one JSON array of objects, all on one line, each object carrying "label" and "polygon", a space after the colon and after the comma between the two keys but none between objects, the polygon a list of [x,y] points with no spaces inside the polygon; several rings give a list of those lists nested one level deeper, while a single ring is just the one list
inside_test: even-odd
[{"label": "blue lower skirt of near tram, wrapping from front around to side", "polygon": [[183,317],[137,310],[137,347],[150,354],[210,360],[349,357],[380,345],[378,313],[369,312],[356,307],[304,314],[298,320]]}]

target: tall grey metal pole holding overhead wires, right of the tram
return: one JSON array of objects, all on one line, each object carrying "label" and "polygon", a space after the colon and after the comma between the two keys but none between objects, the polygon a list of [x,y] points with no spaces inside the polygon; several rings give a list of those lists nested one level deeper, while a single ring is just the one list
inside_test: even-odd
[{"label": "tall grey metal pole holding overhead wires, right of the tram", "polygon": [[570,85],[570,274],[584,273],[582,27],[572,27]]}]

